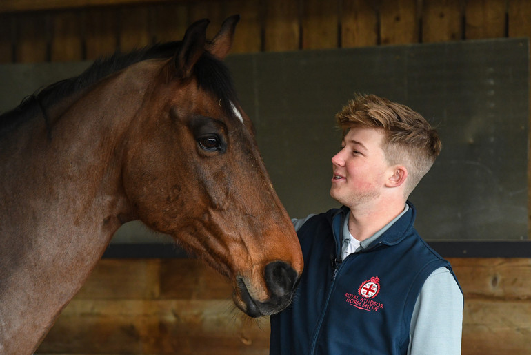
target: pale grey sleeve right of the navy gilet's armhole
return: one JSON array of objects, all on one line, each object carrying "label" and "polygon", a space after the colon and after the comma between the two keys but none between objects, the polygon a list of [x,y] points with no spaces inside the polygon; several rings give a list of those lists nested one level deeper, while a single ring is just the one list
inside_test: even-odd
[{"label": "pale grey sleeve right of the navy gilet's armhole", "polygon": [[463,294],[441,267],[424,282],[413,309],[408,355],[461,354]]}]

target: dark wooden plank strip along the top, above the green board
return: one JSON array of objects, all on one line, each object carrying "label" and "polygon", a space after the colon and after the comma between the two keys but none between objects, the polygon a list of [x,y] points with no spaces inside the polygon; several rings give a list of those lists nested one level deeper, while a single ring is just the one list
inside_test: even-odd
[{"label": "dark wooden plank strip along the top, above the green board", "polygon": [[521,37],[531,31],[528,0],[3,0],[0,63],[95,59],[180,39],[203,17],[212,21],[212,36],[234,13],[242,16],[236,53]]}]

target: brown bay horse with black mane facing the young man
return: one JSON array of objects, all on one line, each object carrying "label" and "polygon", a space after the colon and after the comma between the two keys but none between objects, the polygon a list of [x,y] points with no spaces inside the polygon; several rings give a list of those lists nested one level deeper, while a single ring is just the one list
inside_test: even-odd
[{"label": "brown bay horse with black mane facing the young man", "polygon": [[222,62],[238,21],[99,59],[0,116],[1,354],[37,348],[131,220],[225,276],[248,316],[289,305],[297,234]]}]

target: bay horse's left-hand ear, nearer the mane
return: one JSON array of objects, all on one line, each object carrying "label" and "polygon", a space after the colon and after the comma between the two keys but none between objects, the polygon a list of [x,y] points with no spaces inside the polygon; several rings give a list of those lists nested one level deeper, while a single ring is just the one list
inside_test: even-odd
[{"label": "bay horse's left-hand ear, nearer the mane", "polygon": [[175,68],[177,77],[186,79],[192,75],[192,69],[201,55],[203,55],[206,43],[206,26],[208,19],[202,19],[192,23],[184,34],[181,46],[175,54]]}]

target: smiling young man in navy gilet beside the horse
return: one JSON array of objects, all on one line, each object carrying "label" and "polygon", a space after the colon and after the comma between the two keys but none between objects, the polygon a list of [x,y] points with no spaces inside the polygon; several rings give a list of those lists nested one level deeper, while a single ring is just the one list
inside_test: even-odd
[{"label": "smiling young man in navy gilet beside the horse", "polygon": [[441,151],[436,131],[374,95],[336,118],[330,195],[343,207],[294,220],[305,267],[292,305],[271,317],[270,354],[460,354],[461,288],[407,201]]}]

